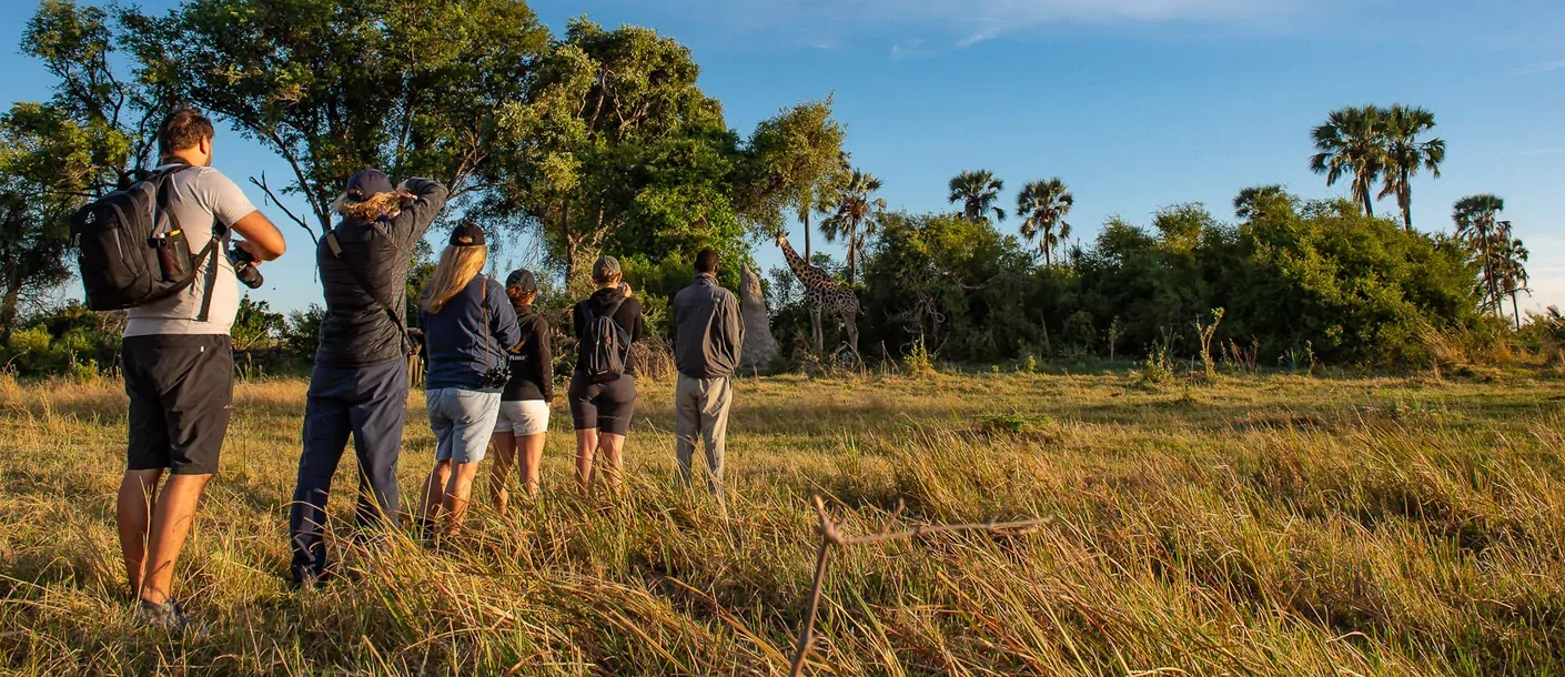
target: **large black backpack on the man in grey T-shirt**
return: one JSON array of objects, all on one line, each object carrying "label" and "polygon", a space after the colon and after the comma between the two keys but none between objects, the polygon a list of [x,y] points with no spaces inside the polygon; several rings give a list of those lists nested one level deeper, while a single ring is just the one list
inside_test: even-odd
[{"label": "large black backpack on the man in grey T-shirt", "polygon": [[77,249],[88,308],[125,310],[167,299],[196,281],[196,267],[210,258],[207,294],[199,322],[207,321],[211,288],[218,280],[218,255],[227,231],[218,231],[199,253],[178,217],[169,210],[169,178],[189,164],[164,167],[130,188],[110,192],[70,216],[70,244]]}]

